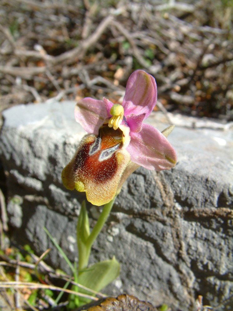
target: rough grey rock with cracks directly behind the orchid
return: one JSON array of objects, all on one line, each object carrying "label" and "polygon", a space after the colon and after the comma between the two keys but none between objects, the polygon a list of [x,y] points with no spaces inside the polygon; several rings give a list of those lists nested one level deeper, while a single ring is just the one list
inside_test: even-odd
[{"label": "rough grey rock with cracks directly behind the orchid", "polygon": [[[13,238],[41,254],[53,247],[46,227],[70,260],[77,259],[75,227],[85,198],[66,190],[60,178],[84,135],[74,104],[8,109],[0,140]],[[163,119],[157,113],[148,122],[162,130],[167,125],[158,116]],[[92,262],[116,255],[121,263],[120,277],[105,292],[183,311],[192,310],[200,294],[216,310],[233,308],[232,138],[231,130],[176,127],[169,137],[176,167],[139,168],[129,177],[91,255]],[[91,225],[96,212],[89,206]],[[48,259],[68,269],[54,247]]]}]

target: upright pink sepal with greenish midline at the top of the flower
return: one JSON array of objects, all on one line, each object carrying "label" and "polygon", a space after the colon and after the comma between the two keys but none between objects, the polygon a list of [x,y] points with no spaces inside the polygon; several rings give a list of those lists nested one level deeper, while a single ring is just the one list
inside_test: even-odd
[{"label": "upright pink sepal with greenish midline at the top of the flower", "polygon": [[157,100],[157,87],[154,77],[143,70],[134,71],[126,85],[123,99],[124,115],[145,114],[146,119],[153,110]]}]

